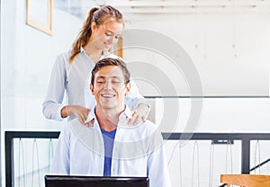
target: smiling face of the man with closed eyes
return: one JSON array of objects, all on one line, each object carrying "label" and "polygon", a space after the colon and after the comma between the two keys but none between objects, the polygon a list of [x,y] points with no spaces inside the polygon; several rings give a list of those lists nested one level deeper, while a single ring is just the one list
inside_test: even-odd
[{"label": "smiling face of the man with closed eyes", "polygon": [[130,91],[130,84],[126,85],[121,67],[106,66],[96,72],[94,85],[90,85],[97,106],[103,109],[124,109],[124,97]]}]

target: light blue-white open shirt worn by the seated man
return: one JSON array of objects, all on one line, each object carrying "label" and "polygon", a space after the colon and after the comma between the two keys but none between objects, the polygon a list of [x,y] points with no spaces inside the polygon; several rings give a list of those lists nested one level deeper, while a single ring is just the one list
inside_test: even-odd
[{"label": "light blue-white open shirt worn by the seated man", "polygon": [[[126,107],[119,123],[112,149],[112,176],[148,176],[150,187],[170,187],[163,149],[163,138],[150,121],[137,126],[127,124],[131,111]],[[51,174],[103,176],[103,135],[94,115],[94,127],[86,128],[75,119],[61,131],[50,166]]]}]

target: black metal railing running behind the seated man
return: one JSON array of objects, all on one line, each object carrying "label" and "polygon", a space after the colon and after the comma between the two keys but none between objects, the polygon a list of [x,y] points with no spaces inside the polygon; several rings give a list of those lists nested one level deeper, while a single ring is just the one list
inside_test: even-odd
[{"label": "black metal railing running behind the seated man", "polygon": [[[14,187],[14,138],[58,138],[58,131],[5,131],[5,186]],[[241,141],[241,173],[265,165],[269,159],[250,169],[250,141],[270,140],[270,133],[162,133],[165,140],[211,140],[213,144]]]}]

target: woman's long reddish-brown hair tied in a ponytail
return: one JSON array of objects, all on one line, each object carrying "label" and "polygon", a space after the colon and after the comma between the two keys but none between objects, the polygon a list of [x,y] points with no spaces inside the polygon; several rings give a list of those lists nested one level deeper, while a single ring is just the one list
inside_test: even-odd
[{"label": "woman's long reddish-brown hair tied in a ponytail", "polygon": [[101,8],[92,8],[85,20],[83,28],[78,34],[76,40],[74,41],[71,49],[71,55],[69,58],[69,65],[71,65],[76,58],[77,54],[80,52],[81,47],[85,47],[88,40],[92,35],[91,24],[95,22],[97,26],[103,24],[104,22],[116,21],[123,22],[122,14],[119,10],[112,7],[111,5],[105,5]]}]

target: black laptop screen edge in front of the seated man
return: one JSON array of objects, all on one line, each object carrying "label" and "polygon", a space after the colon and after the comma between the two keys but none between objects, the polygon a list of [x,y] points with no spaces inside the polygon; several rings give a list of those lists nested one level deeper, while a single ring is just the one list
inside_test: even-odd
[{"label": "black laptop screen edge in front of the seated man", "polygon": [[45,175],[45,187],[149,187],[148,177]]}]

